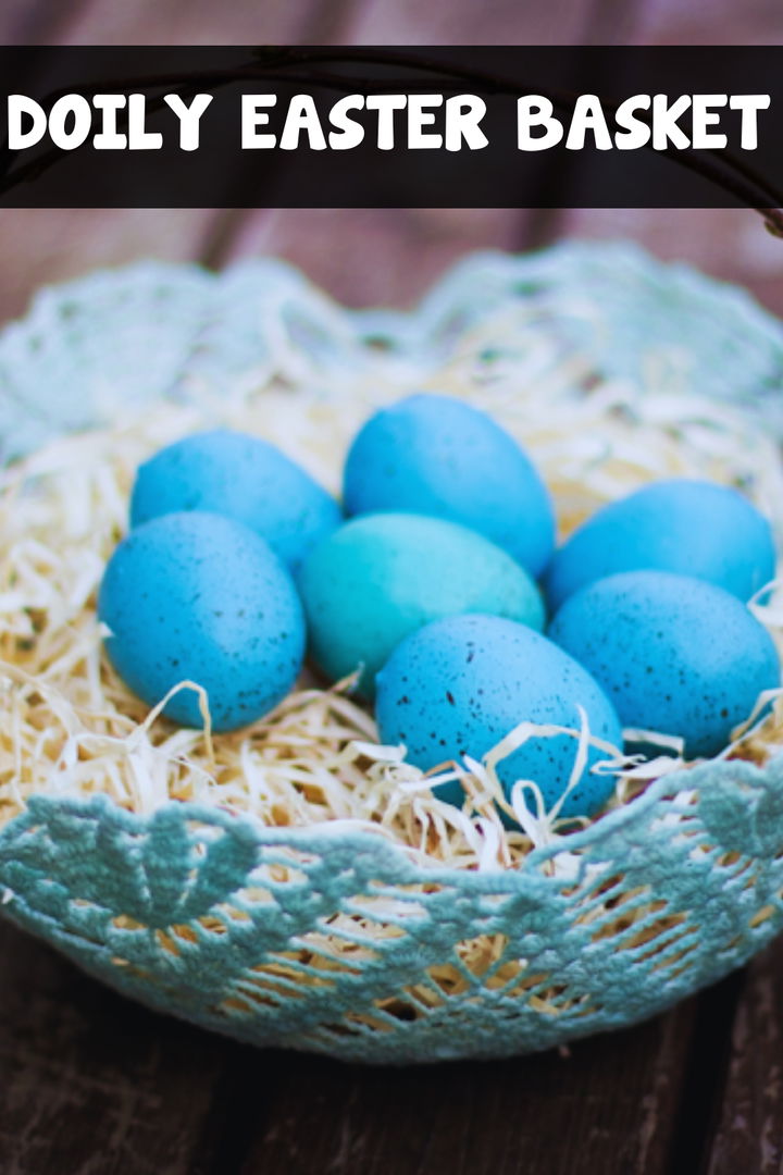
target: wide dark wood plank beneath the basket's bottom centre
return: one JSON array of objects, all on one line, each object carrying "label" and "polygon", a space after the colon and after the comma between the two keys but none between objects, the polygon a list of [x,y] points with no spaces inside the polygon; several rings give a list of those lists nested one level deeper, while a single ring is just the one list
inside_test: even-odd
[{"label": "wide dark wood plank beneath the basket's bottom centre", "polygon": [[[633,1030],[581,1041],[567,1058],[362,1069],[279,1056],[265,1122],[239,1169],[663,1175],[693,1010],[690,1001]],[[256,1073],[265,1070],[261,1055]]]}]

